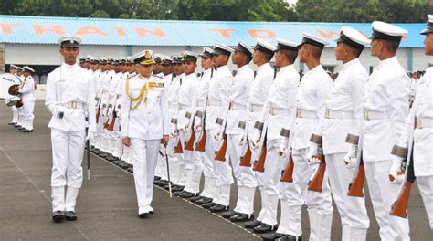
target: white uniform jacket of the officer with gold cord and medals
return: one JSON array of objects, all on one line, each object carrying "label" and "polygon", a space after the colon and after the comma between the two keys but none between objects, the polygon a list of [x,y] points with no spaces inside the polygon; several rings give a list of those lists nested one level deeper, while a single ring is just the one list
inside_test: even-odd
[{"label": "white uniform jacket of the officer with gold cord and medals", "polygon": [[126,94],[125,85],[125,91],[121,96],[121,137],[159,140],[163,135],[170,133],[167,89],[164,87],[163,79],[154,76],[149,79],[134,76],[129,79],[129,91],[132,97],[137,97],[142,87],[149,82],[159,83],[163,87],[150,87],[134,110],[131,109],[137,103]]}]

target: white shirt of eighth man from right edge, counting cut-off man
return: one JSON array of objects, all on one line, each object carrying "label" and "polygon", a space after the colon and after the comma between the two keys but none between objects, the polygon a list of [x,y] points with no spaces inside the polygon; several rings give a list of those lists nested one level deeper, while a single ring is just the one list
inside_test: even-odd
[{"label": "white shirt of eighth man from right edge, counting cut-off man", "polygon": [[214,72],[214,78],[209,81],[206,130],[221,128],[221,126],[216,124],[216,118],[222,118],[228,110],[228,96],[232,83],[233,76],[228,66],[218,67],[216,72]]}]

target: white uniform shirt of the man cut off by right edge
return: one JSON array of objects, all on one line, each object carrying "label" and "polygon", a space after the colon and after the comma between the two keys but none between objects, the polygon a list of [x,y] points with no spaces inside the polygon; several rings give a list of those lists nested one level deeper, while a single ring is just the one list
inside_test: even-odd
[{"label": "white uniform shirt of the man cut off by right edge", "polygon": [[414,120],[433,120],[433,67],[426,70],[426,73],[417,81],[415,100],[401,138],[399,146],[408,147],[410,132],[413,132],[414,149],[414,171],[416,176],[432,176],[433,162],[431,154],[433,150],[433,128],[417,128],[414,130]]}]

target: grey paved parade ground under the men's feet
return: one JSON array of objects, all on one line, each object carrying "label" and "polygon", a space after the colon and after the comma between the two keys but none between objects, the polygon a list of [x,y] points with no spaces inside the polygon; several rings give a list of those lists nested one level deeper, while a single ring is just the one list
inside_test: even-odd
[{"label": "grey paved parade ground under the men's feet", "polygon": [[[0,240],[260,240],[239,225],[181,198],[170,198],[155,187],[154,214],[140,219],[133,178],[121,168],[91,154],[91,178],[84,174],[75,222],[51,221],[51,117],[42,101],[35,107],[35,131],[22,133],[8,126],[11,111],[0,104]],[[86,159],[83,168],[87,168]],[[231,208],[237,198],[232,188]],[[259,192],[255,213],[259,214]],[[379,240],[371,201],[367,240]],[[409,201],[412,240],[431,240],[432,232],[417,185]],[[340,217],[333,213],[332,240],[341,239]],[[308,240],[308,216],[302,215],[303,238]]]}]

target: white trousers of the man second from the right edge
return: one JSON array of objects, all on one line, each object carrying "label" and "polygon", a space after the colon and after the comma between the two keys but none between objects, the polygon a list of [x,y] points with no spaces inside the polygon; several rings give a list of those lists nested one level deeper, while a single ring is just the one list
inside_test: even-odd
[{"label": "white trousers of the man second from the right edge", "polygon": [[401,186],[389,182],[388,172],[391,164],[391,160],[364,162],[365,177],[375,211],[375,219],[379,224],[379,234],[382,240],[410,240],[408,219],[389,215]]}]

